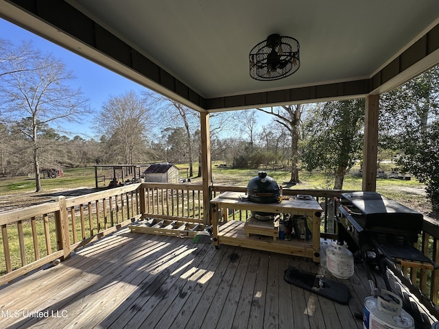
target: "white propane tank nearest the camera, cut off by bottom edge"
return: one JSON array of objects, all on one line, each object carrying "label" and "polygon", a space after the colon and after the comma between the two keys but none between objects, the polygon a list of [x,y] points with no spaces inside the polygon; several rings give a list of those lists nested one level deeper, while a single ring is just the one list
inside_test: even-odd
[{"label": "white propane tank nearest the camera, cut off by bottom edge", "polygon": [[402,309],[402,305],[401,298],[387,290],[381,290],[381,296],[377,298],[366,297],[364,300],[363,328],[414,329],[414,319]]}]

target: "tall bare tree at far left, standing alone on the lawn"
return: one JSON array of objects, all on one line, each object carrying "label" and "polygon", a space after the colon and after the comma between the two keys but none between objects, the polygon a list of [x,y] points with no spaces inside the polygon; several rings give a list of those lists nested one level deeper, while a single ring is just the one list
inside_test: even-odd
[{"label": "tall bare tree at far left, standing alone on the lawn", "polygon": [[6,123],[29,118],[32,132],[29,138],[32,140],[38,192],[42,190],[38,141],[40,125],[73,121],[84,112],[88,101],[82,97],[80,89],[75,90],[67,85],[69,80],[73,80],[73,73],[66,69],[61,60],[32,47],[27,47],[27,51],[21,47],[11,47],[10,53],[20,53],[20,56],[9,56],[10,60],[0,63],[1,116]]}]

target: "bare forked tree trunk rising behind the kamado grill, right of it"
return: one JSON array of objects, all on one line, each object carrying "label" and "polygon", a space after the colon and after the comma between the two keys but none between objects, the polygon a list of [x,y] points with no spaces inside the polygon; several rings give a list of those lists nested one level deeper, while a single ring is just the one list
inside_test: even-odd
[{"label": "bare forked tree trunk rising behind the kamado grill, right of it", "polygon": [[283,125],[291,137],[291,178],[289,182],[291,184],[297,184],[299,180],[298,171],[298,141],[299,141],[299,125],[300,117],[302,115],[302,104],[280,106],[276,108],[258,108],[262,112],[272,114],[274,121]]}]

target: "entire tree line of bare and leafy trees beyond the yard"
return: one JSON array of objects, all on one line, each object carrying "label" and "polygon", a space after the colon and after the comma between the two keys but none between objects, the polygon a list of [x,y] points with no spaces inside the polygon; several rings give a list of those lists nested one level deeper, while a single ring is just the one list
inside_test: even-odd
[{"label": "entire tree line of bare and leafy trees beyond the yard", "polygon": [[[60,127],[90,112],[62,60],[0,40],[1,175],[90,164],[189,163],[200,159],[200,117],[145,90],[112,95],[95,113],[95,138],[69,137]],[[439,69],[434,67],[380,97],[379,151],[427,186],[438,209]],[[294,104],[211,114],[211,158],[233,167],[299,169],[333,175],[333,188],[361,163],[364,99]],[[201,169],[201,166],[198,166]],[[199,169],[199,170],[200,170]]]}]

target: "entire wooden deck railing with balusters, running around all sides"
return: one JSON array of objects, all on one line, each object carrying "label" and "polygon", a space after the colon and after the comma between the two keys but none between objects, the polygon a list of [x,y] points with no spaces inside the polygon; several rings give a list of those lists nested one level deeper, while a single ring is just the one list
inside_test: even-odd
[{"label": "entire wooden deck railing with balusters, running around all sides", "polygon": [[[238,186],[213,186],[212,196],[225,191],[246,193]],[[323,208],[322,239],[337,239],[333,197],[347,191],[287,190],[284,195],[313,195]],[[18,278],[52,261],[67,258],[75,249],[145,217],[204,223],[209,209],[203,208],[202,186],[195,184],[130,184],[80,197],[0,213],[0,284]],[[244,210],[229,209],[228,219],[246,220]],[[418,246],[439,263],[439,223],[424,217]],[[209,220],[209,218],[208,218]],[[210,221],[208,221],[208,224]],[[439,271],[394,267],[410,291],[436,312]],[[432,303],[431,301],[434,301]]]}]

